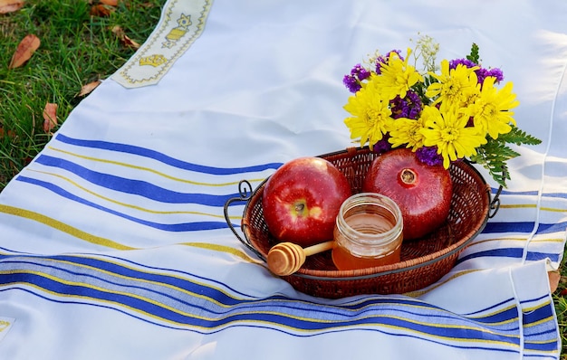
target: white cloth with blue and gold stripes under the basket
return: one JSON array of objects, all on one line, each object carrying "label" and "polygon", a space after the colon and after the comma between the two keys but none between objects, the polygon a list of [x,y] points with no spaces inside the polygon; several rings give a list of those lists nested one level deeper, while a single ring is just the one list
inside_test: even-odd
[{"label": "white cloth with blue and gold stripes under the basket", "polygon": [[[567,222],[567,3],[205,9],[200,37],[156,84],[104,81],[0,194],[1,358],[559,358],[546,271],[562,261]],[[428,289],[299,293],[235,239],[223,205],[242,179],[351,146],[342,76],[418,32],[441,44],[439,59],[477,43],[514,82],[518,126],[543,143],[518,148],[495,218]],[[234,223],[243,207],[231,206]]]}]

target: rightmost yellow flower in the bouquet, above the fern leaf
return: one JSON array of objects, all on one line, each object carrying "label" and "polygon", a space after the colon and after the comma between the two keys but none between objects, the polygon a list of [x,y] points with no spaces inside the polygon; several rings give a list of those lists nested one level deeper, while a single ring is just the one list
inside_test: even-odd
[{"label": "rightmost yellow flower in the bouquet, above the fern leaf", "polygon": [[489,76],[485,79],[475,103],[467,114],[475,118],[475,127],[482,134],[497,138],[499,134],[506,134],[512,130],[510,124],[515,125],[512,118],[514,112],[510,109],[519,105],[512,92],[512,82],[507,82],[502,90],[495,87],[495,78]]}]

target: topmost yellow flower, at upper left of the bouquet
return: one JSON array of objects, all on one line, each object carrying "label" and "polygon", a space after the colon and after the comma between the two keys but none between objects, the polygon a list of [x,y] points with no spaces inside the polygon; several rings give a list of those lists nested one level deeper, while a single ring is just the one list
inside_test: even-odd
[{"label": "topmost yellow flower, at upper left of the bouquet", "polygon": [[388,62],[380,66],[380,75],[371,80],[376,83],[383,98],[394,99],[399,95],[403,99],[409,88],[418,81],[423,82],[423,76],[416,68],[408,65],[410,53],[411,49],[408,49],[406,60],[402,61],[397,52],[390,52]]}]

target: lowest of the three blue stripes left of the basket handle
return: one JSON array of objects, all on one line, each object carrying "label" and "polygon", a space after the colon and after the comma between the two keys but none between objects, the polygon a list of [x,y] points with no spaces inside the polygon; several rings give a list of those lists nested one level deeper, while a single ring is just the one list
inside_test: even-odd
[{"label": "lowest of the three blue stripes left of the basket handle", "polygon": [[194,223],[155,223],[155,222],[149,222],[147,220],[139,219],[139,218],[136,218],[134,216],[130,216],[126,213],[120,213],[120,212],[117,212],[117,211],[112,210],[110,208],[104,207],[102,205],[92,203],[91,201],[83,199],[82,197],[79,197],[77,195],[71,194],[68,191],[62,189],[62,187],[59,187],[59,186],[54,185],[52,183],[44,182],[42,180],[34,179],[34,178],[23,176],[23,175],[18,175],[16,177],[16,180],[27,183],[27,184],[42,186],[43,188],[48,189],[48,190],[52,191],[53,193],[58,194],[58,195],[60,195],[64,198],[72,200],[74,202],[77,202],[77,203],[80,203],[80,204],[83,204],[83,205],[86,205],[86,206],[90,206],[90,207],[95,208],[97,210],[101,210],[105,213],[111,213],[112,215],[119,216],[123,219],[129,220],[129,221],[134,222],[134,223],[139,223],[139,224],[146,225],[146,226],[152,227],[154,229],[163,230],[163,231],[166,231],[166,232],[197,232],[197,231],[203,231],[203,230],[225,229],[226,227],[228,227],[226,222],[194,222]]}]

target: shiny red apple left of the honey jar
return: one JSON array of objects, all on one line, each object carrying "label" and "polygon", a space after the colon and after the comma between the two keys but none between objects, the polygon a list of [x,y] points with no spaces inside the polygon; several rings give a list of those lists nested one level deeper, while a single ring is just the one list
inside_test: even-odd
[{"label": "shiny red apple left of the honey jar", "polygon": [[341,204],[351,196],[345,175],[321,157],[300,157],[278,168],[264,186],[268,230],[302,247],[332,240]]}]

